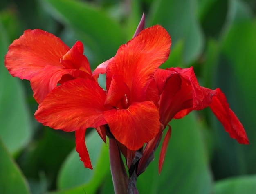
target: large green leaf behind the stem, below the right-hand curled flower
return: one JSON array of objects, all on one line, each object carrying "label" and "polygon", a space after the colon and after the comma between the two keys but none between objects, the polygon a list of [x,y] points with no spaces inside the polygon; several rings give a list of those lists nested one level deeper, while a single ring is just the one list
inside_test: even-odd
[{"label": "large green leaf behind the stem, below the right-hand curled flower", "polygon": [[[138,177],[140,193],[210,194],[213,190],[211,172],[204,150],[200,125],[193,113],[183,119],[173,120],[172,135],[161,174],[158,174],[159,150],[155,160]],[[160,144],[161,146],[161,144]]]}]

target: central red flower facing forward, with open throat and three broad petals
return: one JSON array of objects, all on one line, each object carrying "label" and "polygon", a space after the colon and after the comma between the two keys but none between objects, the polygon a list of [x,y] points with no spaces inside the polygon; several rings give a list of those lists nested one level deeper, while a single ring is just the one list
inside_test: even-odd
[{"label": "central red flower facing forward, with open throat and three broad petals", "polygon": [[167,60],[170,46],[171,38],[161,26],[144,29],[120,46],[108,64],[107,94],[92,80],[67,81],[46,95],[36,119],[54,129],[76,131],[76,150],[88,168],[92,167],[84,142],[86,128],[108,124],[117,141],[129,150],[140,149],[159,132],[159,112],[154,103],[158,89],[150,82]]}]

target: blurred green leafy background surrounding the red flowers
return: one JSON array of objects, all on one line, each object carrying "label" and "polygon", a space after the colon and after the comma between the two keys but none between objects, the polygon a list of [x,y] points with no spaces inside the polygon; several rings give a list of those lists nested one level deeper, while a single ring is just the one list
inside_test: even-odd
[{"label": "blurred green leafy background surrounding the red flowers", "polygon": [[[1,0],[0,192],[2,194],[113,193],[108,146],[86,135],[93,170],[74,150],[74,133],[34,119],[28,81],[9,75],[4,55],[26,29],[43,29],[68,46],[81,40],[92,69],[132,38],[142,13],[172,38],[162,68],[194,66],[201,86],[221,88],[243,123],[250,145],[231,139],[209,108],[171,121],[162,173],[159,150],[141,176],[141,194],[256,193],[255,0]],[[100,82],[104,84],[104,79]],[[161,145],[160,145],[161,146]]]}]

